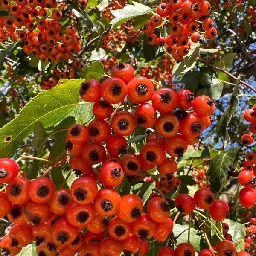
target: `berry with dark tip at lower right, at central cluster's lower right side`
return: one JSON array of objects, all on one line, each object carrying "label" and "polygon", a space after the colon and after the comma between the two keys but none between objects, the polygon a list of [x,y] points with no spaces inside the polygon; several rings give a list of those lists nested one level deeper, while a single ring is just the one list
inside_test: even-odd
[{"label": "berry with dark tip at lower right, at central cluster's lower right side", "polygon": [[188,148],[185,138],[179,134],[165,141],[166,153],[171,157],[182,157]]}]

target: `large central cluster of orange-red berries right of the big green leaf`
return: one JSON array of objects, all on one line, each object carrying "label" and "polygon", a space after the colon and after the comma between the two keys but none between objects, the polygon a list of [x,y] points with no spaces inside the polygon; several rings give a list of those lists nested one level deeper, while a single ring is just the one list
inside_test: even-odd
[{"label": "large central cluster of orange-red berries right of the big green leaf", "polygon": [[[106,150],[108,158],[118,161],[123,154],[122,168],[126,175],[136,176],[141,169],[150,170],[154,166],[158,166],[161,175],[174,173],[177,164],[166,158],[166,153],[182,157],[188,145],[197,142],[197,137],[210,125],[209,116],[215,110],[213,100],[208,96],[194,98],[189,90],[175,93],[162,87],[154,91],[149,79],[134,77],[130,64],[117,64],[111,74],[102,84],[93,79],[81,84],[80,96],[84,101],[94,102],[96,119],[88,126],[70,127],[65,147],[70,154],[82,156],[87,165],[104,161]],[[112,104],[117,104],[116,108]],[[133,134],[136,125],[154,128],[157,134],[149,137],[150,141],[147,139],[139,155],[126,154],[125,136]]]}]

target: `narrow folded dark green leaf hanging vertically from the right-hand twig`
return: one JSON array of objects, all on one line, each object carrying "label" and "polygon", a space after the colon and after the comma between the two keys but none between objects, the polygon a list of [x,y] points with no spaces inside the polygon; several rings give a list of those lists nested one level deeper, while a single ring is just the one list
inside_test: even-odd
[{"label": "narrow folded dark green leaf hanging vertically from the right-hand twig", "polygon": [[217,133],[225,136],[226,140],[228,139],[227,125],[229,124],[233,113],[236,112],[236,108],[238,105],[237,91],[238,91],[239,82],[240,82],[240,78],[236,81],[236,86],[231,95],[230,102],[216,126]]}]

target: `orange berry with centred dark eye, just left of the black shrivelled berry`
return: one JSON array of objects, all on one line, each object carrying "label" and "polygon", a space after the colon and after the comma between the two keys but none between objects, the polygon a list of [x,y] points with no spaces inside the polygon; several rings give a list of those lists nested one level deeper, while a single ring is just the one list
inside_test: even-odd
[{"label": "orange berry with centred dark eye, just left of the black shrivelled berry", "polygon": [[156,122],[156,131],[160,136],[166,138],[174,137],[179,130],[180,123],[174,114],[163,114],[158,117]]}]

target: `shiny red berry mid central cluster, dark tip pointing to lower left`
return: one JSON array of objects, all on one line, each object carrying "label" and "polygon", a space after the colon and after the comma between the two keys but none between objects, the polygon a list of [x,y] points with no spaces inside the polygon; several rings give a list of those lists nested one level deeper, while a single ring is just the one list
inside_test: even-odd
[{"label": "shiny red berry mid central cluster, dark tip pointing to lower left", "polygon": [[134,113],[137,124],[143,127],[152,127],[157,122],[157,112],[155,108],[148,103],[140,104]]}]

